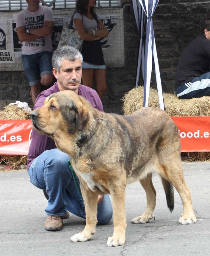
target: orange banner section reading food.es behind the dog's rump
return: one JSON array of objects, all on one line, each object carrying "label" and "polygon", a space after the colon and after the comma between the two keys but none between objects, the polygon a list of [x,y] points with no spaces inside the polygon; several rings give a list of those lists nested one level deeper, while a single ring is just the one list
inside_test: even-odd
[{"label": "orange banner section reading food.es behind the dog's rump", "polygon": [[179,129],[182,152],[210,151],[210,116],[171,118]]}]

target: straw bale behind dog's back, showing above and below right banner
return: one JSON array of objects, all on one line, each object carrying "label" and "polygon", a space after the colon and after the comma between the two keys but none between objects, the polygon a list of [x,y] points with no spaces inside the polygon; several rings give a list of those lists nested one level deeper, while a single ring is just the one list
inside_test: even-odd
[{"label": "straw bale behind dog's back, showing above and below right banner", "polygon": [[[165,112],[169,116],[210,116],[210,97],[178,99],[175,94],[163,93]],[[144,87],[133,88],[122,99],[125,115],[143,107]],[[159,108],[157,90],[150,88],[148,107]],[[182,152],[184,162],[210,161],[210,152]]]}]

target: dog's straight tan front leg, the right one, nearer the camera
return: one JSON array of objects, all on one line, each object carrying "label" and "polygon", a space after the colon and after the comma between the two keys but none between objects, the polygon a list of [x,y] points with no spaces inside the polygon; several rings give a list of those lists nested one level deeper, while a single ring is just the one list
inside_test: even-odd
[{"label": "dog's straight tan front leg, the right one, nearer the camera", "polygon": [[111,186],[111,197],[114,212],[114,233],[108,238],[107,246],[118,246],[125,244],[125,229],[127,227],[125,218],[125,182],[117,182],[117,186]]}]

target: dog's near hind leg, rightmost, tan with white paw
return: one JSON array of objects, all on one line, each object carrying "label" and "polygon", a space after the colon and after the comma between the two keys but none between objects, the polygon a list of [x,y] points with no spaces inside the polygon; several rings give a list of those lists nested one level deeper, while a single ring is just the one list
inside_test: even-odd
[{"label": "dog's near hind leg, rightmost, tan with white paw", "polygon": [[182,169],[181,161],[174,156],[164,165],[161,165],[159,169],[159,175],[161,175],[165,180],[168,180],[176,188],[180,195],[183,205],[183,213],[179,222],[181,224],[191,224],[196,223],[196,216],[193,211],[192,200],[190,196],[190,189],[184,180],[184,174]]}]

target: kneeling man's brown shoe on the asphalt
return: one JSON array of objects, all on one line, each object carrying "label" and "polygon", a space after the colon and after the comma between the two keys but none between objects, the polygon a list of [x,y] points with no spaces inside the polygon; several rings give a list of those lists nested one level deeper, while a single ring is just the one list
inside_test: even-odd
[{"label": "kneeling man's brown shoe on the asphalt", "polygon": [[69,218],[69,212],[66,212],[64,216],[48,216],[47,220],[45,221],[45,230],[48,231],[59,231],[62,227],[62,220],[64,218]]}]

